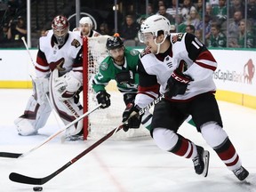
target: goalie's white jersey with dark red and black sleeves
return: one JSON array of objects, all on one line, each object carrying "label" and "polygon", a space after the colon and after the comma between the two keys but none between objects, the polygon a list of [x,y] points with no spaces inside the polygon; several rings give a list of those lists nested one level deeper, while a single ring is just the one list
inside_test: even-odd
[{"label": "goalie's white jersey with dark red and black sleeves", "polygon": [[54,68],[59,68],[60,74],[70,70],[76,73],[78,79],[83,77],[82,39],[72,32],[68,32],[65,44],[59,46],[54,43],[53,31],[39,39],[39,50],[36,57],[36,76],[44,77]]}]

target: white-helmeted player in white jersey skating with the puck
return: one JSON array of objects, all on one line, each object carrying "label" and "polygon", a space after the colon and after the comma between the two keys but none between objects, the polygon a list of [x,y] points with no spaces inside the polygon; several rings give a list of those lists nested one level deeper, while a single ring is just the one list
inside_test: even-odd
[{"label": "white-helmeted player in white jersey skating with the puck", "polygon": [[164,94],[154,108],[151,135],[156,145],[177,156],[192,159],[197,174],[208,172],[209,152],[178,133],[188,115],[196,129],[238,180],[249,172],[242,166],[235,147],[222,128],[212,80],[217,62],[212,53],[192,34],[171,34],[170,22],[161,15],[141,24],[140,41],[147,45],[138,64],[139,88],[135,104],[126,108],[123,122],[131,124],[133,111]]}]

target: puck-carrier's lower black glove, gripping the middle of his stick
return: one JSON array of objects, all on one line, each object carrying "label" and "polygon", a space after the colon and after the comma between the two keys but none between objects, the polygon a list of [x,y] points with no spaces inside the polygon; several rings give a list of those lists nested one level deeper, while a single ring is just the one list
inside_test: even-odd
[{"label": "puck-carrier's lower black glove, gripping the middle of his stick", "polygon": [[124,132],[127,132],[129,128],[138,129],[140,127],[141,116],[139,115],[139,111],[139,106],[134,106],[133,103],[128,103],[123,113]]}]

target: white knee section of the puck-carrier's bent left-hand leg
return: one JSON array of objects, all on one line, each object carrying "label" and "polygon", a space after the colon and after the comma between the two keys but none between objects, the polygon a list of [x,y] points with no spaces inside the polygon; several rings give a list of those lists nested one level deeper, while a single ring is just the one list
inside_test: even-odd
[{"label": "white knee section of the puck-carrier's bent left-hand leg", "polygon": [[156,141],[158,148],[166,151],[170,151],[174,148],[179,140],[179,137],[175,132],[160,127],[153,130],[153,138]]}]

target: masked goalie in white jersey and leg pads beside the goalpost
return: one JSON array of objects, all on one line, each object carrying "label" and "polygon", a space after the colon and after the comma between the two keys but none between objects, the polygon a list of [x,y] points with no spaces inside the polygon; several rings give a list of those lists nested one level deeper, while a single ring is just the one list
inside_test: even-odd
[{"label": "masked goalie in white jersey and leg pads beside the goalpost", "polygon": [[[83,114],[78,99],[83,82],[82,50],[82,39],[69,31],[67,18],[56,16],[52,20],[52,30],[39,39],[36,78],[33,78],[34,93],[28,100],[24,114],[14,121],[20,135],[36,134],[38,129],[44,127],[52,108],[64,124]],[[83,121],[80,121],[70,127],[66,135],[76,135],[82,129]]]}]

